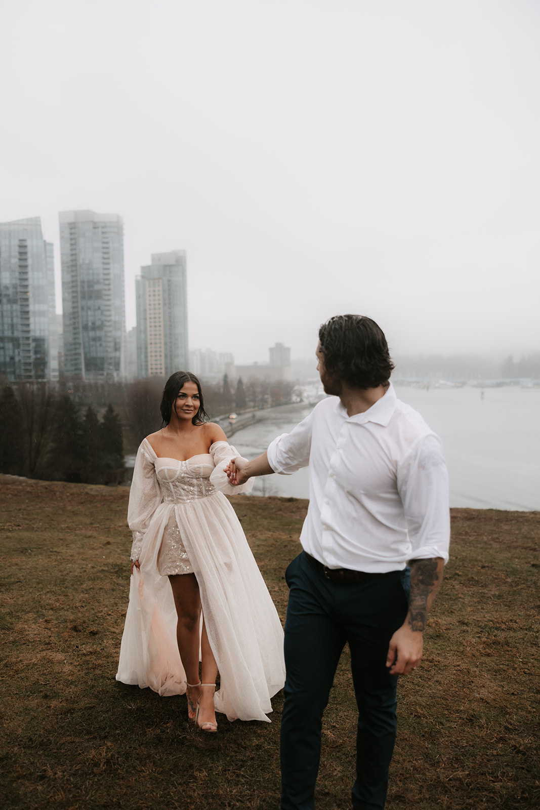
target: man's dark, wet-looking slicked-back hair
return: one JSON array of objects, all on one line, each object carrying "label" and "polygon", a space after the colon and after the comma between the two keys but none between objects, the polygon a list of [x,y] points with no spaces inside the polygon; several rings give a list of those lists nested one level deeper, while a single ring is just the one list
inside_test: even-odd
[{"label": "man's dark, wet-looking slicked-back hair", "polygon": [[336,315],[319,329],[325,370],[355,388],[385,385],[393,372],[385,333],[364,315]]}]

